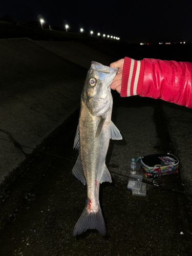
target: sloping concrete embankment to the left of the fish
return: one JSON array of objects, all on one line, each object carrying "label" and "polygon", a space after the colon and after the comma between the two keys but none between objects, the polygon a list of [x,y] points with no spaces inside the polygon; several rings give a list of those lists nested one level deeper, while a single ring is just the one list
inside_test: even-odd
[{"label": "sloping concrete embankment to the left of the fish", "polygon": [[74,42],[0,40],[0,182],[78,108],[91,60],[109,63],[100,56]]}]

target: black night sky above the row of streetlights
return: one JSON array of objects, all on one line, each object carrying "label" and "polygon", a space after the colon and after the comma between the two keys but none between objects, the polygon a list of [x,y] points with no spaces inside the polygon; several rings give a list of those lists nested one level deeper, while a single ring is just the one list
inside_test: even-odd
[{"label": "black night sky above the row of streetlights", "polygon": [[[192,41],[191,0],[135,1],[48,1],[4,0],[0,16],[10,15],[17,22],[37,20],[78,32],[110,34],[129,42]],[[69,30],[69,31],[70,31]]]}]

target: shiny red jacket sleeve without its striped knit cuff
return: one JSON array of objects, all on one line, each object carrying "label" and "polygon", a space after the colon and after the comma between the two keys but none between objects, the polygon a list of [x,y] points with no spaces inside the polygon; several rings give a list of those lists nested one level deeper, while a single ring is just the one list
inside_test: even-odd
[{"label": "shiny red jacket sleeve without its striped knit cuff", "polygon": [[144,59],[141,97],[151,97],[192,108],[192,63]]}]

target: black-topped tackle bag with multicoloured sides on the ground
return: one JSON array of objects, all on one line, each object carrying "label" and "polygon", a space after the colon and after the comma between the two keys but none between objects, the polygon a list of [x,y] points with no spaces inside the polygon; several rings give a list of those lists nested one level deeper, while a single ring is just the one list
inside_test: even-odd
[{"label": "black-topped tackle bag with multicoloured sides on the ground", "polygon": [[178,173],[179,160],[170,153],[139,157],[137,162],[146,178]]}]

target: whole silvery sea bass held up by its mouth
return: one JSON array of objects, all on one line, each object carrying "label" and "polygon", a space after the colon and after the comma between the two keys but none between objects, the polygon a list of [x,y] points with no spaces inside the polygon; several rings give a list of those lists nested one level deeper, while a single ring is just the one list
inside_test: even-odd
[{"label": "whole silvery sea bass held up by its mouth", "polygon": [[73,167],[73,174],[84,185],[87,184],[87,201],[73,235],[97,229],[104,236],[105,223],[99,204],[99,185],[112,182],[105,165],[110,139],[120,140],[122,136],[111,121],[113,98],[110,85],[118,69],[103,66],[92,61],[81,93],[80,115],[74,148],[79,156]]}]

